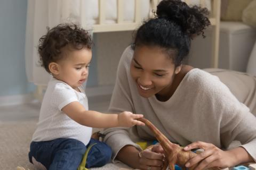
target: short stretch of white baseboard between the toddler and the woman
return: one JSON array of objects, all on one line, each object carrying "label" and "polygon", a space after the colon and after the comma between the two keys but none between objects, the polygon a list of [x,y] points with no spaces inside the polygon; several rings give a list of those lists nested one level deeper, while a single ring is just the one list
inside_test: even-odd
[{"label": "short stretch of white baseboard between the toddler and the woman", "polygon": [[114,85],[86,87],[85,94],[87,97],[112,95],[113,90],[114,90]]}]

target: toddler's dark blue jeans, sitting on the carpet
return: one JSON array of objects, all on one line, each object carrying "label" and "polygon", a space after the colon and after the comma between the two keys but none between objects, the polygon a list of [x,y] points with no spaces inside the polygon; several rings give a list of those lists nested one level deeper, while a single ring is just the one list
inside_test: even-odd
[{"label": "toddler's dark blue jeans, sitting on the carpet", "polygon": [[31,142],[28,154],[29,162],[32,158],[41,163],[46,169],[76,170],[83,155],[90,145],[94,145],[86,160],[86,168],[101,167],[111,159],[111,148],[106,143],[91,139],[87,146],[76,139],[55,139],[51,141]]}]

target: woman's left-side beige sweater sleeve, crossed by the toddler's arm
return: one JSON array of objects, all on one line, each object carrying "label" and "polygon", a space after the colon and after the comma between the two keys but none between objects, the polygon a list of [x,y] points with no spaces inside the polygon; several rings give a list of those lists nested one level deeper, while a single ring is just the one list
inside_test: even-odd
[{"label": "woman's left-side beige sweater sleeve, crossed by the toddler's arm", "polygon": [[[133,101],[131,97],[130,78],[130,63],[133,52],[131,47],[127,47],[121,57],[117,69],[117,79],[115,88],[111,97],[109,113],[120,113],[124,111],[134,112]],[[106,134],[103,139],[113,150],[113,162],[115,162],[116,155],[124,146],[131,145],[141,150],[140,146],[132,141],[130,132],[135,130],[133,128],[109,128],[104,131]]]}]

